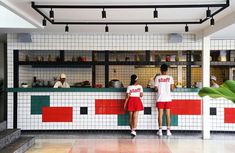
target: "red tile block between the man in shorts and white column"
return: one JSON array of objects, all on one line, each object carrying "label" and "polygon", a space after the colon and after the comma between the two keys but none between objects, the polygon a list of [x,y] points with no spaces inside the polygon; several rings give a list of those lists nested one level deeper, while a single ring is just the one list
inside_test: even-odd
[{"label": "red tile block between the man in shorts and white column", "polygon": [[201,115],[201,100],[172,100],[172,115]]}]

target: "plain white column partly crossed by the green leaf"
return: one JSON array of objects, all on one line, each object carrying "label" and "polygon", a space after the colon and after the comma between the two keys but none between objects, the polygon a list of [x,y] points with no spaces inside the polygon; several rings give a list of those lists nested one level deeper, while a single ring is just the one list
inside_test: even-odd
[{"label": "plain white column partly crossed by the green leaf", "polygon": [[[210,37],[203,37],[202,50],[202,85],[210,86]],[[203,139],[210,139],[210,98],[204,97],[202,101],[202,134]]]}]

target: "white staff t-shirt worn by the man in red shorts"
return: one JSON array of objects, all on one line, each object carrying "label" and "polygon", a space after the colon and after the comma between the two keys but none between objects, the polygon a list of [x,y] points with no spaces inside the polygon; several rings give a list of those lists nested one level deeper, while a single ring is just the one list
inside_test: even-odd
[{"label": "white staff t-shirt worn by the man in red shorts", "polygon": [[169,75],[159,75],[155,79],[155,86],[158,89],[157,102],[171,102],[171,85],[174,79]]}]

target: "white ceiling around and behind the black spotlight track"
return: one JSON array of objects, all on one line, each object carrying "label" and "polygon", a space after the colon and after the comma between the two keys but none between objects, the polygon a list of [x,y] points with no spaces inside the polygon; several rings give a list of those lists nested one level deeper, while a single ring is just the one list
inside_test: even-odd
[{"label": "white ceiling around and behind the black spotlight track", "polygon": [[[117,4],[201,4],[201,3],[225,3],[226,0],[34,0],[36,4],[78,4],[78,5],[117,5]],[[1,3],[1,2],[0,2]],[[223,19],[226,15],[235,11],[235,1],[230,0],[230,7],[224,10],[222,13],[215,16],[216,22]],[[38,28],[32,29],[4,29],[6,32],[30,32],[30,31],[42,31],[42,32],[64,32],[64,25],[51,25],[47,22],[47,26],[43,28],[41,26],[42,17],[31,8],[30,0],[2,0],[3,5],[7,5],[9,9],[17,10],[19,16],[29,21]],[[43,12],[49,12],[49,9],[43,9]],[[205,17],[205,9],[158,9],[159,18],[153,18],[153,9],[106,9],[107,18],[101,18],[100,9],[91,10],[74,10],[69,11],[63,9],[54,9],[56,21],[165,21],[170,19],[171,21],[188,21],[199,20]],[[213,12],[213,11],[212,11]],[[190,32],[198,33],[206,28],[210,28],[209,21],[202,25],[189,25]],[[0,29],[1,32],[2,29]],[[144,25],[110,25],[109,31],[114,33],[143,33]],[[77,25],[70,26],[71,33],[77,32],[104,32],[104,25]],[[149,25],[149,33],[172,33],[172,32],[184,32],[184,25]],[[235,34],[234,34],[235,38]]]}]

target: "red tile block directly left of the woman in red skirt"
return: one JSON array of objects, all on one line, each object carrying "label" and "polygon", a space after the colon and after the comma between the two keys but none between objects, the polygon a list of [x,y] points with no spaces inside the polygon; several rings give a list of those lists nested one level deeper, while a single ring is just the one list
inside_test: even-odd
[{"label": "red tile block directly left of the woman in red skirt", "polygon": [[96,99],[95,114],[125,114],[125,99]]}]

